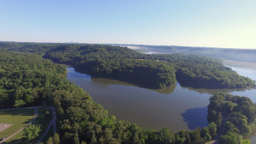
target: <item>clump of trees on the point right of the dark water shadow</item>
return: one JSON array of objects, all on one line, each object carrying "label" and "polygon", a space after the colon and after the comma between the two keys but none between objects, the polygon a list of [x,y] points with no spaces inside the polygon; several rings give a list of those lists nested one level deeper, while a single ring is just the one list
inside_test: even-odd
[{"label": "clump of trees on the point right of the dark water shadow", "polygon": [[225,127],[219,144],[249,144],[244,139],[256,128],[256,106],[250,98],[215,93],[209,100],[208,122]]}]

